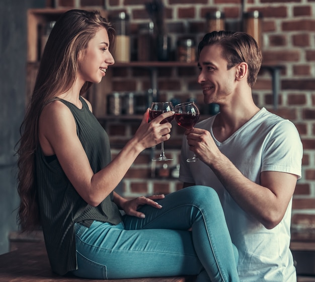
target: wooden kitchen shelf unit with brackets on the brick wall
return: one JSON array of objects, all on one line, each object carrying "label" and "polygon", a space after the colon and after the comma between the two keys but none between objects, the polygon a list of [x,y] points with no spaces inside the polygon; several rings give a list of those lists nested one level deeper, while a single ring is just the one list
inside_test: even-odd
[{"label": "wooden kitchen shelf unit with brackets on the brick wall", "polygon": [[[40,50],[42,48],[40,38],[43,35],[44,26],[50,21],[56,21],[64,12],[68,9],[29,9],[27,12],[27,95],[26,103],[30,99],[30,95],[33,91],[35,79],[39,67],[40,61]],[[106,10],[100,11],[103,17],[108,16]],[[130,61],[126,63],[116,62],[113,67],[128,67],[128,68],[146,68],[150,70],[151,80],[151,97],[150,101],[156,99],[157,96],[157,79],[158,69],[160,67],[197,67],[197,62],[180,62],[180,61]],[[273,93],[273,106],[277,109],[278,106],[278,95],[280,92],[280,72],[281,65],[278,64],[263,64],[262,69],[267,69],[272,78],[272,93]],[[137,120],[141,119],[141,116],[112,116],[106,115],[105,109],[107,104],[107,95],[112,92],[111,87],[111,72],[106,74],[105,78],[100,84],[93,85],[88,92],[88,97],[93,105],[94,113],[98,118],[102,120],[108,119],[126,119],[126,120]]]}]

